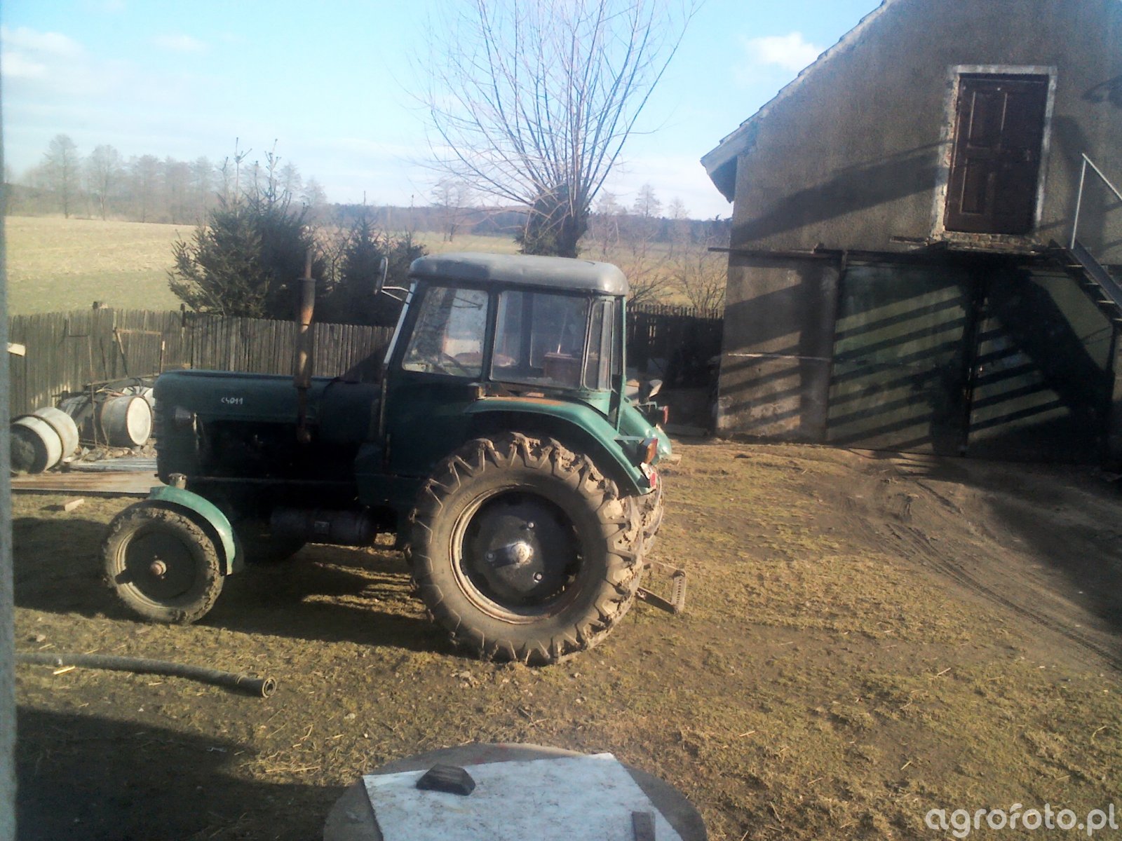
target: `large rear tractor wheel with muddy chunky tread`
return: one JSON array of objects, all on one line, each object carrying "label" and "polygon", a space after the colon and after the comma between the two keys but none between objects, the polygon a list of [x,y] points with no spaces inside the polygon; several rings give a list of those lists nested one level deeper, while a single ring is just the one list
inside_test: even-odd
[{"label": "large rear tractor wheel with muddy chunky tread", "polygon": [[412,523],[421,599],[482,657],[545,664],[591,648],[638,588],[637,508],[557,441],[469,442],[427,481]]}]

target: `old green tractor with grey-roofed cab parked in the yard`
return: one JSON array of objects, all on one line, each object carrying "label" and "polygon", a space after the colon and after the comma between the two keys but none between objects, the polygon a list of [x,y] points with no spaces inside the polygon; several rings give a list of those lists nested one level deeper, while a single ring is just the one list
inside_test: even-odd
[{"label": "old green tractor with grey-roofed cab parked in the yard", "polygon": [[[532,664],[590,648],[638,594],[662,519],[664,410],[626,394],[615,266],[423,257],[377,381],[174,371],[157,380],[164,487],[102,554],[140,617],[193,622],[224,577],[305,543],[396,535],[454,644]],[[394,293],[377,284],[376,293]],[[307,336],[314,287],[304,280]],[[659,565],[662,566],[662,565]]]}]

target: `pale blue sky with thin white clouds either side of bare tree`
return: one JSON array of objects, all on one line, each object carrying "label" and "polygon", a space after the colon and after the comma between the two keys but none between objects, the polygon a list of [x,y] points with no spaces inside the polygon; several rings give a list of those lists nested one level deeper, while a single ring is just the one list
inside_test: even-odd
[{"label": "pale blue sky with thin white clouds either side of bare tree", "polygon": [[[68,135],[82,155],[274,149],[329,201],[432,203],[417,105],[430,26],[465,0],[3,0],[4,166]],[[732,214],[699,163],[879,0],[707,0],[605,188],[650,184],[695,219]]]}]

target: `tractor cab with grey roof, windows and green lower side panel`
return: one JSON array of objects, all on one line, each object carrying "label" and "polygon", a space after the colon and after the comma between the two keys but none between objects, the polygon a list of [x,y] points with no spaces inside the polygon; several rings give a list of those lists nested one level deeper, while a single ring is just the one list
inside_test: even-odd
[{"label": "tractor cab with grey roof, windows and green lower side panel", "polygon": [[[654,435],[669,452],[652,418],[624,398],[628,287],[618,268],[445,253],[415,260],[410,278],[384,373],[392,474],[427,475],[450,440],[468,440],[488,420],[508,428],[512,414],[528,415],[562,438],[590,425],[608,443]],[[558,423],[565,405],[591,422]],[[636,480],[636,492],[646,491],[642,477]]]}]

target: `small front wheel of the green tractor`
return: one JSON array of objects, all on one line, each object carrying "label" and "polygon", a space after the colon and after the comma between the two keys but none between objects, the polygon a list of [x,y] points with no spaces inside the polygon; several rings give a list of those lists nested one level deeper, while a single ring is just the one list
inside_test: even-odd
[{"label": "small front wheel of the green tractor", "polygon": [[197,523],[138,502],[110,524],[101,545],[105,581],[129,610],[155,622],[202,619],[222,591],[218,547]]}]

